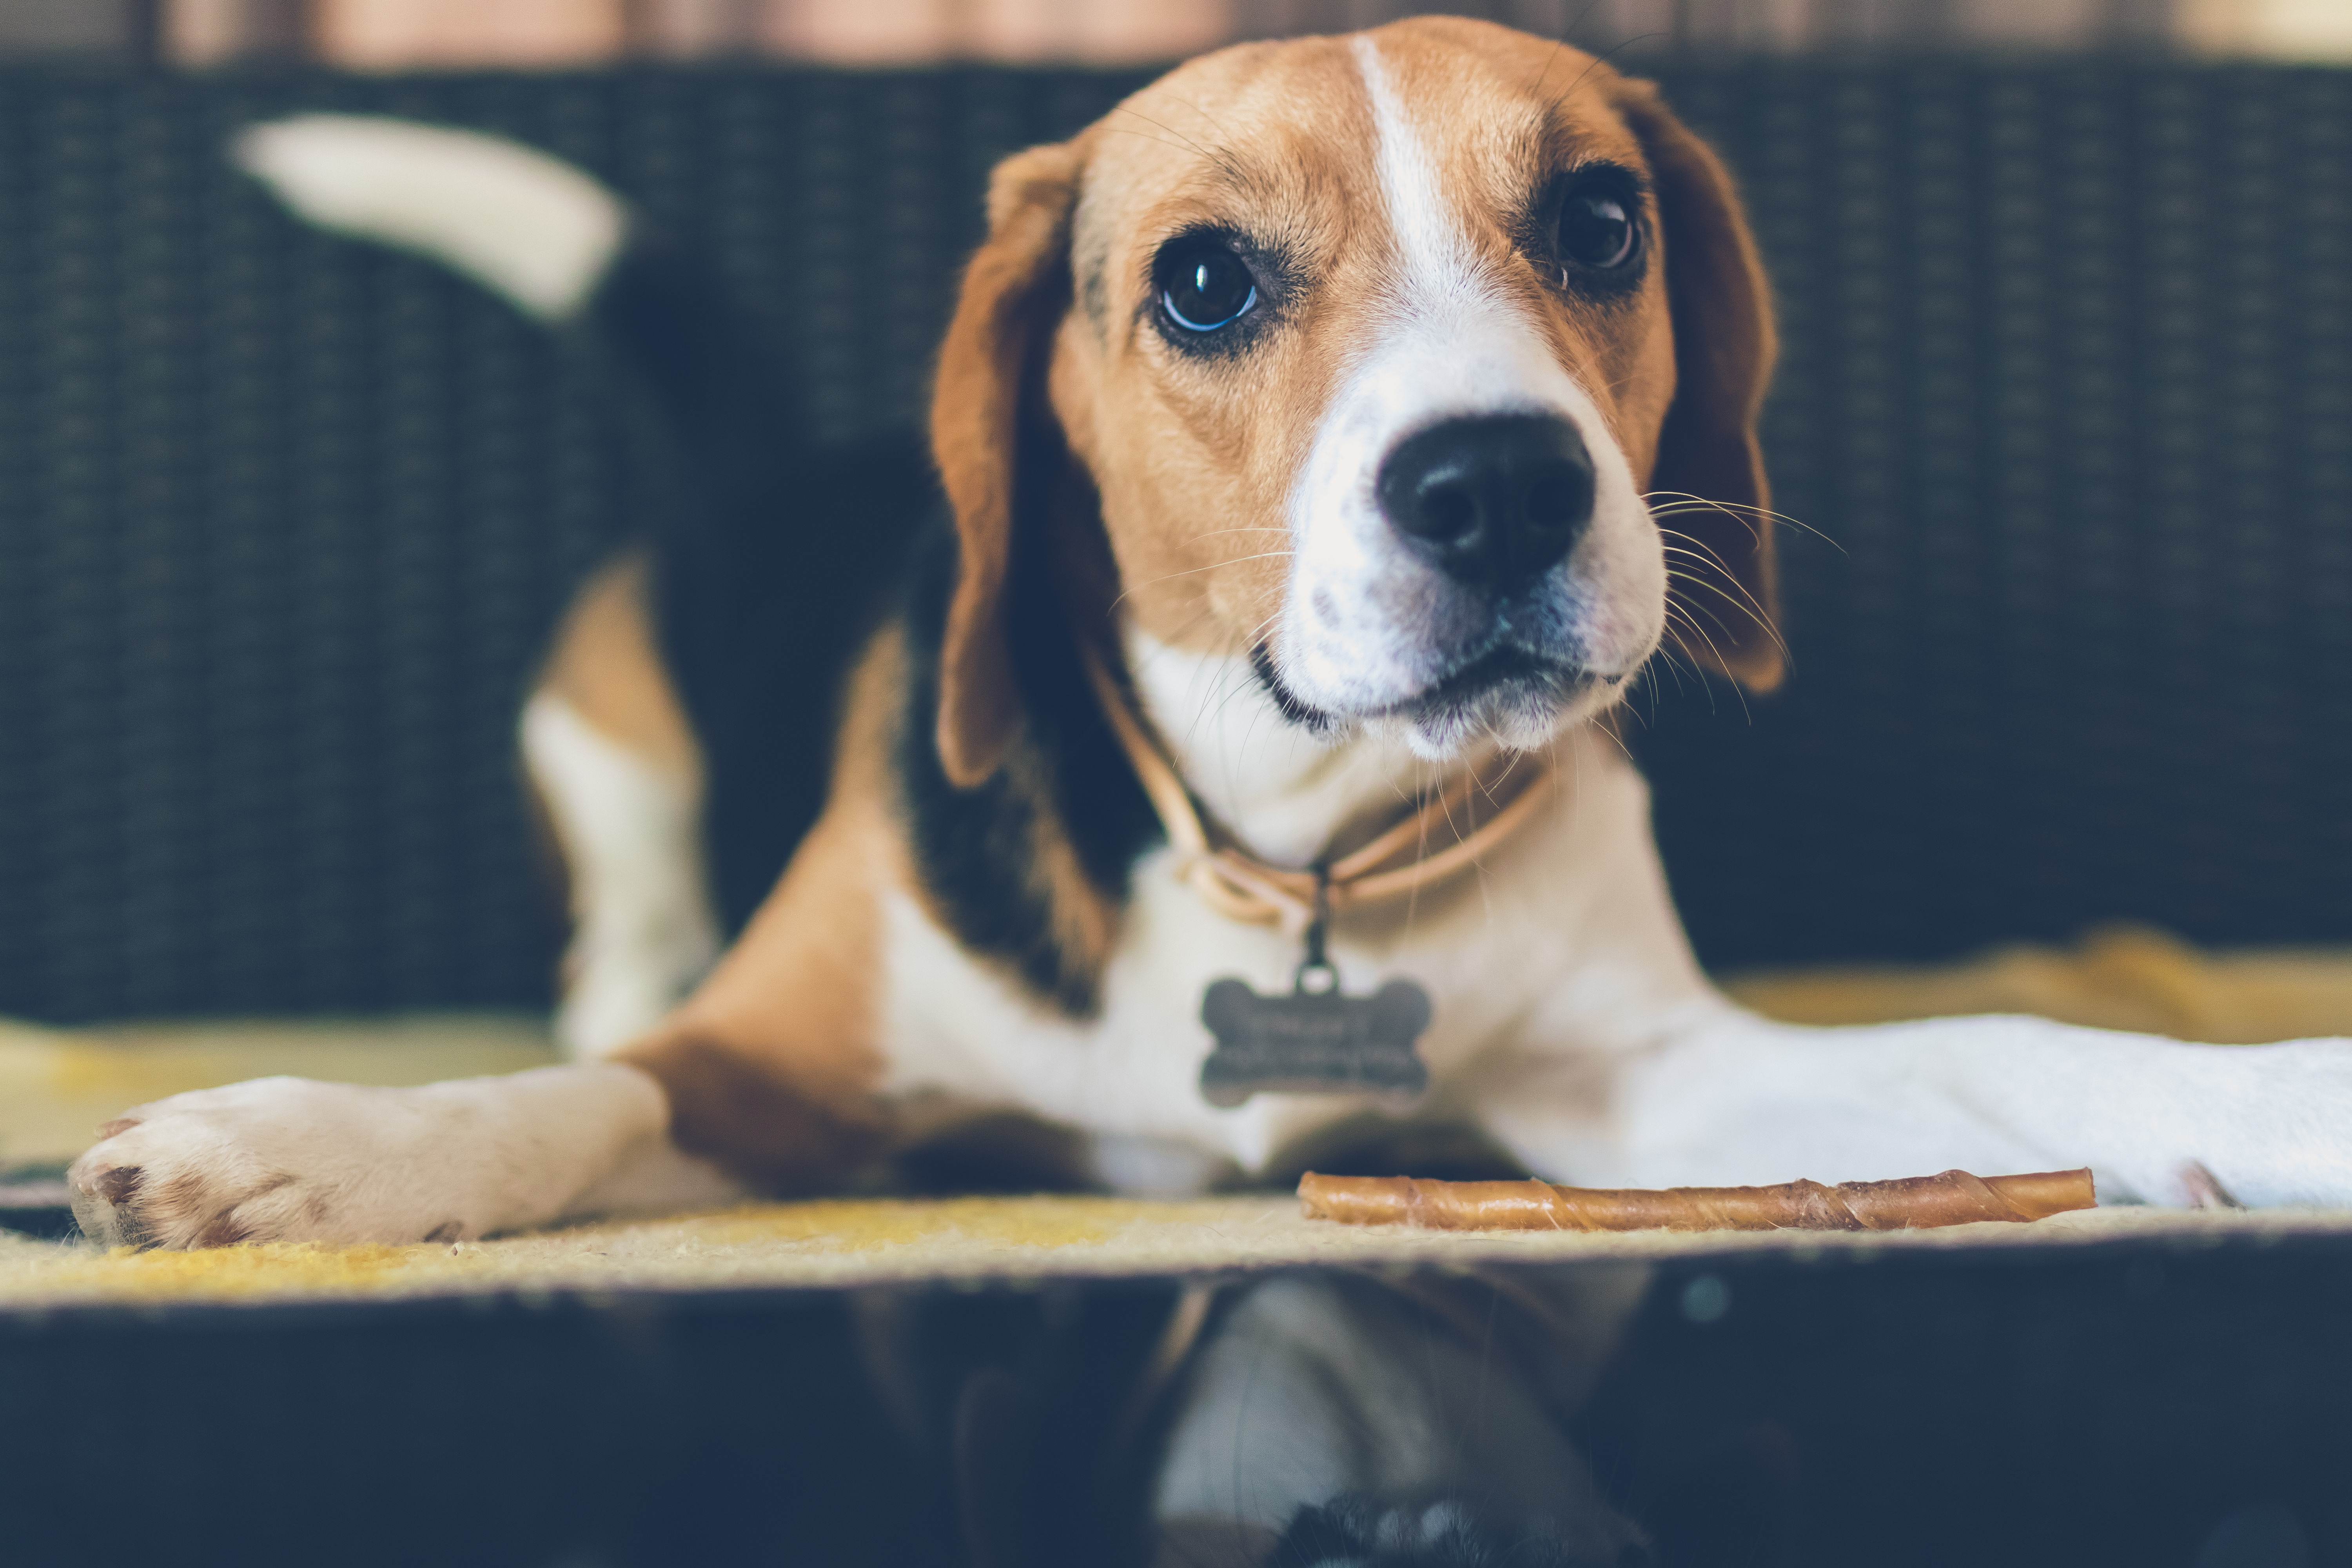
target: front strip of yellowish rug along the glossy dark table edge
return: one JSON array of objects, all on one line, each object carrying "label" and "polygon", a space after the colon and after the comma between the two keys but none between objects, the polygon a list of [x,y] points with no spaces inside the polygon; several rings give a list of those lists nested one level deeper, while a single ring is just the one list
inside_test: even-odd
[{"label": "front strip of yellowish rug along the glossy dark table edge", "polygon": [[903,1281],[1042,1284],[1068,1276],[1268,1269],[1308,1262],[1479,1262],[1693,1255],[1886,1255],[2084,1241],[2352,1237],[2352,1211],[2178,1213],[2098,1208],[2034,1225],[1919,1232],[1416,1232],[1303,1220],[1289,1197],[1136,1201],[1089,1197],[757,1204],[459,1246],[230,1246],[101,1253],[0,1239],[0,1309],[61,1305],[299,1302],[508,1291],[739,1291]]}]

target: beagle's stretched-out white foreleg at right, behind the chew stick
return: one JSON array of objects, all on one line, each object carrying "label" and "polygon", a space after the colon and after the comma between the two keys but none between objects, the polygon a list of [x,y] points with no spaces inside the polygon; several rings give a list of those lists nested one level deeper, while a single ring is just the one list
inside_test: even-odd
[{"label": "beagle's stretched-out white foreleg at right, behind the chew stick", "polygon": [[2352,1041],[2190,1046],[2039,1018],[1849,1030],[1724,1009],[1595,1079],[1519,1058],[1482,1119],[1534,1171],[1670,1187],[2091,1166],[2110,1201],[2352,1204]]}]

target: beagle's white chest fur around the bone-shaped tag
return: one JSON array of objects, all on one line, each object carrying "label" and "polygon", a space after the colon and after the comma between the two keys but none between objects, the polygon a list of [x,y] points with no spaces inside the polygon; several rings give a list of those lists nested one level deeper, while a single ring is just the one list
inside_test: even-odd
[{"label": "beagle's white chest fur around the bone-shaped tag", "polygon": [[[1204,773],[1214,778],[1216,766]],[[1308,790],[1329,773],[1315,769]],[[1237,773],[1225,783],[1204,790],[1211,806],[1247,788]],[[1279,813],[1254,816],[1279,823]],[[1287,990],[1298,943],[1216,914],[1176,872],[1171,851],[1136,865],[1091,1018],[1054,1013],[964,952],[920,903],[894,898],[887,1091],[924,1095],[955,1107],[950,1114],[1023,1110],[1244,1168],[1369,1110],[1352,1095],[1261,1093],[1232,1110],[1202,1100],[1200,1067],[1214,1044],[1200,1023],[1202,990],[1221,976]],[[1432,1074],[1423,1110],[1432,1114],[1456,1107],[1482,1063],[1529,1044],[1529,1030],[1543,1032],[1548,1053],[1611,1058],[1653,1041],[1670,1016],[1710,997],[1665,898],[1646,788],[1606,736],[1583,729],[1559,743],[1552,799],[1501,853],[1414,903],[1338,922],[1331,959],[1350,992],[1390,978],[1430,992],[1435,1018],[1421,1051]]]}]

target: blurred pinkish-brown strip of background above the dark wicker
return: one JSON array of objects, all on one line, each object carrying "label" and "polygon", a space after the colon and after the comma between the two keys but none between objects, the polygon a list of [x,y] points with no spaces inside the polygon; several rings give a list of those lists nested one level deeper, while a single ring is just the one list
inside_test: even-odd
[{"label": "blurred pinkish-brown strip of background above the dark wicker", "polygon": [[1421,9],[1635,52],[2129,47],[2352,59],[2347,0],[0,0],[0,52],[191,66],[278,56],[358,71],[623,56],[1129,63]]}]

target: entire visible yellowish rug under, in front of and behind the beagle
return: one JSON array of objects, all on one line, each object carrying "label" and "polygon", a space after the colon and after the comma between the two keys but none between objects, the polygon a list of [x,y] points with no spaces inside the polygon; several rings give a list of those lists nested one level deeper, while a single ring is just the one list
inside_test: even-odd
[{"label": "entire visible yellowish rug under, in front of and behind the beagle", "polygon": [[[2180,1039],[2352,1034],[2352,954],[2201,954],[2154,931],[2098,933],[2077,950],[2013,947],[1971,964],[1816,969],[1733,978],[1729,990],[1792,1023],[1879,1023],[2023,1011]],[[0,1166],[80,1152],[139,1100],[270,1072],[423,1084],[555,1060],[534,1018],[214,1023],[35,1030],[0,1023]],[[1823,1180],[1842,1173],[1823,1171]],[[713,1291],[908,1279],[1160,1274],[1296,1262],[1484,1262],[1677,1258],[1752,1251],[2044,1246],[2100,1239],[2352,1234],[2352,1213],[2098,1211],[2039,1225],[1839,1237],[1428,1234],[1310,1222],[1284,1194],[1188,1204],[1033,1197],[767,1204],[670,1220],[583,1225],[461,1246],[240,1246],[118,1253],[0,1234],[0,1307],[452,1295],[485,1291]]]}]

